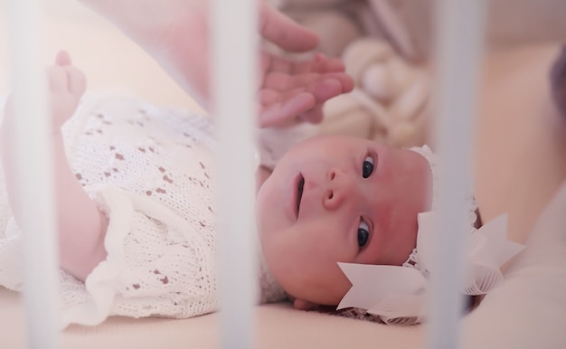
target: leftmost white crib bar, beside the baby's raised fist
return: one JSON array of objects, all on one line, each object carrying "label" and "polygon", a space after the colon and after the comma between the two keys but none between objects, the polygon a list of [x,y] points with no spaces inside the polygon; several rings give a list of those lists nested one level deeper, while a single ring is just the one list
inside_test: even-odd
[{"label": "leftmost white crib bar, beside the baby's raised fist", "polygon": [[9,4],[10,61],[14,96],[14,145],[18,223],[24,235],[24,307],[28,347],[59,347],[57,332],[57,244],[53,210],[51,127],[40,46],[40,1]]}]

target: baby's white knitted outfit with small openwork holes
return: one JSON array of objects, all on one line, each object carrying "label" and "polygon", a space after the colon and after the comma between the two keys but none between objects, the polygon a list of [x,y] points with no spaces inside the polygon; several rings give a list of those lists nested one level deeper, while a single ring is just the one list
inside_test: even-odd
[{"label": "baby's white knitted outfit with small openwork holes", "polygon": [[[63,132],[71,168],[108,215],[109,226],[108,257],[84,283],[61,270],[62,325],[216,310],[210,120],[132,98],[90,97]],[[0,199],[0,214],[6,215],[5,193]],[[21,235],[13,218],[0,217],[6,221],[0,285],[21,290]],[[283,299],[259,259],[259,302]]]}]

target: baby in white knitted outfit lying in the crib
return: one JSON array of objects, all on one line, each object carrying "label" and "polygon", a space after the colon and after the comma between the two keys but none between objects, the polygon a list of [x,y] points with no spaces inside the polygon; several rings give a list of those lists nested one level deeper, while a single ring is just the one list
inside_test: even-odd
[{"label": "baby in white knitted outfit lying in the crib", "polygon": [[[63,325],[216,310],[210,120],[131,99],[84,99],[75,112],[84,76],[66,54],[57,62],[49,82]],[[8,101],[5,141],[11,117]],[[16,155],[2,151],[9,169]],[[351,287],[337,262],[415,267],[431,164],[426,147],[350,137],[288,150],[257,196],[259,301],[336,306]],[[14,201],[16,178],[5,175]],[[17,220],[14,212],[0,239],[0,285],[20,290]]]}]

